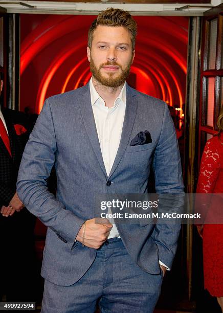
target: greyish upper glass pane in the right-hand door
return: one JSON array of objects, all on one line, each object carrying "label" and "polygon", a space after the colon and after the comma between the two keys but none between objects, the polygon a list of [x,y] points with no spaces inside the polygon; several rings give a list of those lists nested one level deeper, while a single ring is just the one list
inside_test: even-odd
[{"label": "greyish upper glass pane in the right-hand door", "polygon": [[217,47],[217,18],[209,22],[209,40],[208,40],[208,70],[215,69]]}]

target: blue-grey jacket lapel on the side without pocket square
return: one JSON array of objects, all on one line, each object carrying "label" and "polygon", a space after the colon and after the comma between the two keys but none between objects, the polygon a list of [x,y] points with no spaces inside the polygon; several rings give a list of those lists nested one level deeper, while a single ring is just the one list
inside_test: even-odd
[{"label": "blue-grey jacket lapel on the side without pocket square", "polygon": [[102,154],[101,154],[100,143],[98,140],[98,133],[97,133],[97,128],[95,124],[95,118],[94,118],[92,105],[91,105],[89,83],[87,83],[84,87],[80,89],[78,100],[79,100],[81,116],[84,122],[84,126],[86,128],[87,136],[90,139],[90,142],[92,144],[92,147],[94,149],[98,162],[105,176],[107,177],[106,169],[105,169]]}]

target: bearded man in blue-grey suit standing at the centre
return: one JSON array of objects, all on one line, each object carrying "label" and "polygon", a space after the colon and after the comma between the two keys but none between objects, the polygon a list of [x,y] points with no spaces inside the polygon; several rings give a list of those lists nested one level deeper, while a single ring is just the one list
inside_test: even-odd
[{"label": "bearded man in blue-grey suit standing at the centre", "polygon": [[46,100],[25,148],[18,196],[48,227],[43,313],[94,312],[97,302],[102,312],[153,312],[173,261],[180,225],[96,220],[99,194],[147,192],[151,164],[158,194],[184,193],[167,105],[125,82],[136,33],[128,12],[99,14],[88,33],[92,79]]}]

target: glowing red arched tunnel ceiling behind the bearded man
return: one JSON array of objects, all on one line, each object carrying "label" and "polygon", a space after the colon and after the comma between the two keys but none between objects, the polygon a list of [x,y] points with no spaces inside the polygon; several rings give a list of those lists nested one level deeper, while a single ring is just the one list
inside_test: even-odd
[{"label": "glowing red arched tunnel ceiling behind the bearded man", "polygon": [[[95,16],[22,14],[20,109],[39,113],[44,99],[85,84],[87,32]],[[182,107],[185,102],[188,18],[136,16],[131,73],[137,90]],[[27,88],[28,86],[28,88]]]}]

